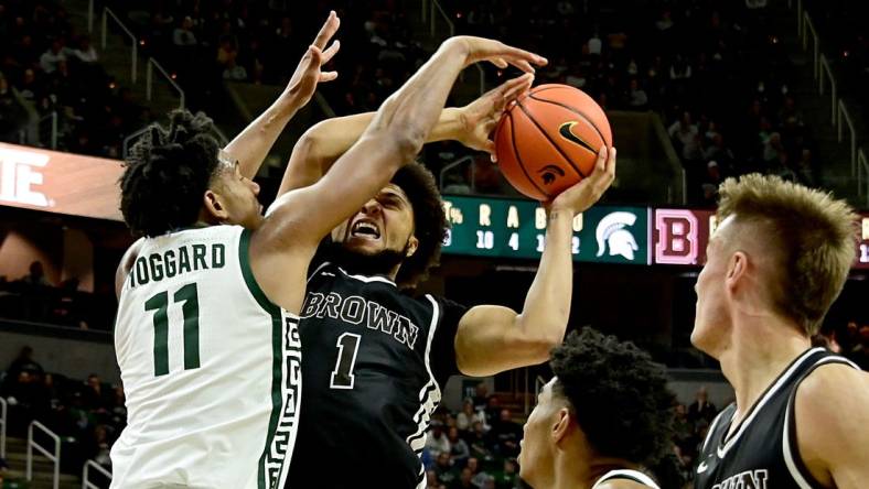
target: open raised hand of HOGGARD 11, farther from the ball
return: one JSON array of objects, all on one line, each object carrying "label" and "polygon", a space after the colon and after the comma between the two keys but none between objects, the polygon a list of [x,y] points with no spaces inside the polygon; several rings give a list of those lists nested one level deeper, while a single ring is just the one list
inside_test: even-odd
[{"label": "open raised hand of HOGGARD 11, farther from the ball", "polygon": [[341,19],[339,19],[335,11],[329,12],[329,19],[320,28],[313,44],[308,46],[308,51],[304,52],[299,66],[296,67],[296,72],[287,85],[286,94],[290,96],[292,104],[297,108],[303,107],[311,100],[314,90],[317,90],[317,84],[332,82],[337,78],[337,72],[322,72],[321,68],[341,48],[341,42],[337,40],[326,48],[326,44],[335,35],[340,25]]}]

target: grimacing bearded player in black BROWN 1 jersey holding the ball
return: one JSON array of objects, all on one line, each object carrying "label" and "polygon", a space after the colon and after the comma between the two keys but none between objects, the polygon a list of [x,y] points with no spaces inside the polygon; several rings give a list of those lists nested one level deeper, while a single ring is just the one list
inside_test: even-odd
[{"label": "grimacing bearded player in black BROWN 1 jersey holding the ball", "polygon": [[[492,152],[490,132],[512,94],[530,82],[517,78],[468,107],[446,109],[444,123],[429,139],[455,139]],[[293,150],[281,192],[328,177],[331,163],[371,117],[311,128]],[[572,295],[572,221],[600,198],[614,172],[615,150],[604,148],[593,174],[548,204],[546,250],[522,312],[401,293],[437,263],[447,232],[434,177],[418,163],[401,169],[337,226],[322,263],[312,267],[301,313],[307,417],[287,487],[421,483],[419,454],[449,377],[539,363],[560,344]],[[342,460],[343,469],[325,486],[315,468],[318,454]]]}]

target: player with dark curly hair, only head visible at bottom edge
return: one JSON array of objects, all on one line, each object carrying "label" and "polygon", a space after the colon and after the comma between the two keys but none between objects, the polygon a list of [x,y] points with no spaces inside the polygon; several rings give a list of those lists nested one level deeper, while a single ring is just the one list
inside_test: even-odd
[{"label": "player with dark curly hair, only head visible at bottom edge", "polygon": [[632,343],[586,327],[552,350],[555,377],[525,423],[519,476],[535,488],[641,489],[670,446],[664,367]]}]

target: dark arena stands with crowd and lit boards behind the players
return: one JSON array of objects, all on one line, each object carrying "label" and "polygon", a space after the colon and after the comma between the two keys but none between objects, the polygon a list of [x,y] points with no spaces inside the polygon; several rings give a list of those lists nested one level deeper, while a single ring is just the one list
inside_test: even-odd
[{"label": "dark arena stands with crowd and lit boards behind the players", "polygon": [[[496,37],[549,58],[536,84],[576,86],[607,109],[619,175],[601,205],[633,213],[626,229],[635,246],[601,238],[601,215],[586,217],[569,329],[591,325],[631,339],[668,367],[679,396],[680,476],[690,478],[708,424],[699,391],[718,408],[732,395],[717,363],[689,341],[693,287],[725,177],[779,174],[861,209],[862,248],[818,343],[835,341],[866,368],[869,33],[860,20],[869,7],[860,0],[0,0],[2,487],[28,487],[23,439],[34,419],[61,436],[61,487],[81,486],[88,459],[108,468],[125,422],[111,347],[114,273],[132,241],[111,200],[125,151],[179,106],[205,111],[232,138],[277,97],[330,9],[342,19],[340,77],[321,86],[268,156],[257,176],[265,205],[307,128],[376,110],[451,34]],[[450,105],[505,76],[470,67]],[[539,256],[535,206],[486,155],[457,143],[429,144],[420,161],[453,209],[452,242],[420,292],[521,308]],[[507,224],[511,206],[518,228]],[[482,385],[451,382],[439,423],[461,419],[470,398],[483,427],[497,432],[479,446],[468,442],[482,461],[473,485],[516,486],[515,454],[498,439],[521,436],[515,423],[548,376],[541,366]],[[466,457],[448,467],[436,458],[432,487],[464,487]],[[52,470],[39,457],[30,487],[49,487]],[[94,483],[104,485],[95,470]]]}]

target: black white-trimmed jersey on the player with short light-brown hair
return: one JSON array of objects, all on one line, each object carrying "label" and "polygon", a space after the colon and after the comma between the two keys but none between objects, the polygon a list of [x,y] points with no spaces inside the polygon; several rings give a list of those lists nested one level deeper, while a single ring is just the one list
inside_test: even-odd
[{"label": "black white-trimmed jersey on the player with short light-brown hair", "polygon": [[793,414],[796,388],[816,368],[850,360],[823,348],[806,350],[766,389],[742,423],[728,436],[736,404],[721,411],[709,426],[698,456],[697,489],[819,488],[805,468],[796,446]]}]

